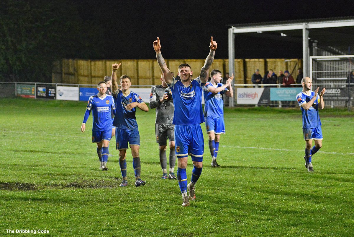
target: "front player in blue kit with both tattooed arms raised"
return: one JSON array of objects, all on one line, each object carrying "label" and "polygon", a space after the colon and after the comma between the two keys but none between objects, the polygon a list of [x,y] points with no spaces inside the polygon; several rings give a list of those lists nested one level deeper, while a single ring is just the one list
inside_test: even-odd
[{"label": "front player in blue kit with both tattooed arms raised", "polygon": [[[194,80],[191,79],[193,71],[188,64],[179,65],[178,76],[181,79],[176,80],[162,57],[159,37],[153,42],[153,46],[165,82],[172,91],[173,104],[175,105],[173,115],[175,147],[178,158],[177,180],[182,193],[182,206],[189,206],[189,200],[195,200],[195,183],[198,181],[203,167],[204,138],[200,123],[204,122],[204,116],[201,96],[203,87],[208,80],[209,68],[214,60],[217,43],[211,37],[210,53],[200,70],[199,77]],[[189,184],[186,173],[188,155],[192,156],[193,161],[192,178]]]}]

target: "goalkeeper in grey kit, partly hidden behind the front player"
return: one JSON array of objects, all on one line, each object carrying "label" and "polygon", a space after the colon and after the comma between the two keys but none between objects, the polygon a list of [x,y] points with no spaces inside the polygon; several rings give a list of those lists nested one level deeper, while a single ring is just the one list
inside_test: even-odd
[{"label": "goalkeeper in grey kit, partly hidden behind the front player", "polygon": [[[155,134],[156,142],[159,143],[160,150],[160,164],[162,168],[162,179],[175,180],[174,173],[176,164],[176,151],[175,151],[175,125],[172,124],[173,112],[175,107],[173,106],[171,89],[167,86],[163,76],[161,74],[161,85],[153,86],[150,92],[150,108],[156,108],[156,120],[155,120]],[[166,146],[167,138],[169,139],[170,147],[170,170],[167,174],[167,157]]]}]

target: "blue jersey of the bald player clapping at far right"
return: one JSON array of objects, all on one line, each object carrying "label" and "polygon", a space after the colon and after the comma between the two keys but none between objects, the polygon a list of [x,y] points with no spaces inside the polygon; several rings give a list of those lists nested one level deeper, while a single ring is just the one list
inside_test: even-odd
[{"label": "blue jersey of the bald player clapping at far right", "polygon": [[[316,100],[314,101],[313,105],[310,109],[306,110],[301,107],[302,104],[307,103],[310,101],[314,96],[316,96]],[[296,95],[296,100],[299,103],[302,111],[302,128],[316,128],[321,126],[320,115],[318,113],[318,104],[320,102],[320,96],[315,92],[311,92],[311,95],[307,95],[303,92],[300,92]]]}]

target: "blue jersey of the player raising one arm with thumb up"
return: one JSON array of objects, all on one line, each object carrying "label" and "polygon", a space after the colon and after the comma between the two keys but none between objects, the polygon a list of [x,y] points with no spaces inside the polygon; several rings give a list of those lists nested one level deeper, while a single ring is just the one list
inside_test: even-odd
[{"label": "blue jersey of the player raising one arm with thumb up", "polygon": [[124,96],[121,90],[118,90],[118,94],[113,95],[115,97],[115,104],[117,106],[114,115],[113,126],[129,130],[137,130],[138,124],[135,117],[137,107],[133,108],[132,110],[127,110],[126,106],[132,102],[138,102],[140,104],[143,102],[143,100],[137,93],[132,91],[127,96]]}]

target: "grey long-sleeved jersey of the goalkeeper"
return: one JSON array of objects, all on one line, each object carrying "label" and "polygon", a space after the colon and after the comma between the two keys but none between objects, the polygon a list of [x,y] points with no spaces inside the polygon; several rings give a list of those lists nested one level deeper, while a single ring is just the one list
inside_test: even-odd
[{"label": "grey long-sleeved jersey of the goalkeeper", "polygon": [[[160,102],[160,99],[164,97],[165,91],[168,90],[170,93],[170,98],[167,101]],[[161,85],[153,86],[150,92],[150,108],[156,108],[156,120],[155,123],[166,124],[172,123],[173,112],[175,111],[175,106],[173,106],[172,94],[170,88],[164,88]]]}]

